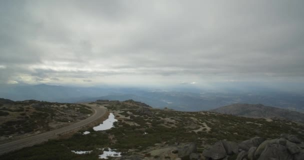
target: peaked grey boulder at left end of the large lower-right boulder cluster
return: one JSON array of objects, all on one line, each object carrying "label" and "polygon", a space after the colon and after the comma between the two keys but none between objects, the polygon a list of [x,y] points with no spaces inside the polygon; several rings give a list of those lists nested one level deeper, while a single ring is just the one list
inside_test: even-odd
[{"label": "peaked grey boulder at left end of the large lower-right boulder cluster", "polygon": [[222,142],[218,141],[214,143],[209,150],[203,150],[202,155],[212,159],[221,159],[225,157],[227,153]]}]

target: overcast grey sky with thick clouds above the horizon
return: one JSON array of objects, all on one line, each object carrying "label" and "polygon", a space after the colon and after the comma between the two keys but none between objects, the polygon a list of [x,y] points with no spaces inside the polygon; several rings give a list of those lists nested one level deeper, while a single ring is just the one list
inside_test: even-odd
[{"label": "overcast grey sky with thick clouds above the horizon", "polygon": [[0,83],[301,81],[304,0],[0,0]]}]

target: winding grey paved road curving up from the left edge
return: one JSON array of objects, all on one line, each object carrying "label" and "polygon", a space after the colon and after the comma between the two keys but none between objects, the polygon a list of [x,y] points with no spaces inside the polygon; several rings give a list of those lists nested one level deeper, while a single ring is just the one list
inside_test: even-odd
[{"label": "winding grey paved road curving up from the left edge", "polygon": [[84,125],[87,125],[88,123],[91,123],[94,120],[97,120],[98,118],[100,118],[101,116],[103,116],[106,112],[106,110],[104,108],[98,107],[98,106],[91,106],[90,107],[92,109],[95,110],[95,112],[89,116],[88,118],[81,120],[79,122],[73,123],[71,125],[59,128],[59,129],[55,129],[55,130],[51,130],[48,132],[44,132],[41,134],[37,134],[37,135],[33,135],[33,136],[29,136],[23,139],[19,139],[19,140],[15,140],[15,141],[11,141],[8,143],[4,143],[4,144],[0,144],[0,154],[3,154],[5,152],[9,152],[9,151],[13,151],[13,150],[17,150],[17,149],[21,149],[22,147],[25,146],[31,146],[34,144],[38,144],[41,143],[43,141],[47,141],[50,138],[55,138],[58,134],[62,134],[64,132],[69,132],[72,131],[74,129],[80,128]]}]

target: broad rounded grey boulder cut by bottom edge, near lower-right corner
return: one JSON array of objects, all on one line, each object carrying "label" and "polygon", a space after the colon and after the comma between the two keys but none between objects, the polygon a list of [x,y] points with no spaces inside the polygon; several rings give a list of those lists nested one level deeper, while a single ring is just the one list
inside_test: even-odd
[{"label": "broad rounded grey boulder cut by bottom edge, near lower-right corner", "polygon": [[292,155],[287,151],[287,148],[281,144],[268,144],[260,154],[258,160],[292,160]]}]

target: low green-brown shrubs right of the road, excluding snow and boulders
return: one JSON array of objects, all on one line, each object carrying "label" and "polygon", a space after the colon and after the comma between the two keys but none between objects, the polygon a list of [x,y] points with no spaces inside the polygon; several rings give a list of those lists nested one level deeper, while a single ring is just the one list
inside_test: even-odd
[{"label": "low green-brown shrubs right of the road, excluding snow and boulders", "polygon": [[[117,149],[122,155],[147,156],[150,155],[148,151],[151,148],[159,145],[170,146],[188,142],[195,142],[197,152],[202,152],[204,148],[222,139],[240,142],[253,136],[277,138],[281,133],[295,134],[304,139],[304,125],[287,120],[268,121],[213,112],[182,112],[155,108],[149,108],[151,114],[142,114],[136,110],[146,106],[132,100],[102,100],[91,104],[107,107],[118,120],[114,123],[115,127],[104,131],[87,128],[89,134],[78,132],[67,139],[50,140],[4,154],[0,159],[98,159],[98,155],[102,153],[99,148],[104,147]],[[87,114],[85,109],[88,110],[85,107],[78,108],[79,112]],[[46,110],[45,113],[48,115],[44,116],[51,114]],[[78,155],[71,150],[93,151],[90,154]],[[152,157],[158,158],[154,155]]]}]

